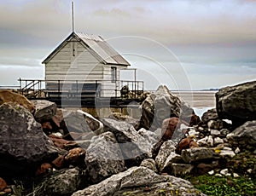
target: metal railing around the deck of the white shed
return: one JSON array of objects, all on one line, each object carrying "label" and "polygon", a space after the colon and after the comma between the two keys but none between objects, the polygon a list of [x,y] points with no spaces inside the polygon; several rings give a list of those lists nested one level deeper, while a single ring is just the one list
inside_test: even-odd
[{"label": "metal railing around the deck of the white shed", "polygon": [[128,80],[34,80],[19,79],[20,94],[30,99],[39,98],[86,98],[120,97],[123,86],[128,87],[125,99],[136,99],[143,95],[143,81]]}]

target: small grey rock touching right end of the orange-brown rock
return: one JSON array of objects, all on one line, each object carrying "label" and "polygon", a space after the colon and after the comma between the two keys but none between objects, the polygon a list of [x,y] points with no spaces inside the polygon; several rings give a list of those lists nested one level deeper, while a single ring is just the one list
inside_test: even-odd
[{"label": "small grey rock touching right end of the orange-brown rock", "polygon": [[57,109],[57,105],[55,104],[55,102],[47,100],[33,100],[32,103],[36,107],[34,117],[39,123],[50,120],[51,118],[53,118],[53,116],[55,116],[55,112]]}]

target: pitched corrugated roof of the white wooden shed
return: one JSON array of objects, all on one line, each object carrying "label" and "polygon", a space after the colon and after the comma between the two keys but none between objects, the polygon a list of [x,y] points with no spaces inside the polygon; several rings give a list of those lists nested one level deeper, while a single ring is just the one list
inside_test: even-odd
[{"label": "pitched corrugated roof of the white wooden shed", "polygon": [[72,32],[42,63],[49,62],[73,37],[84,43],[90,53],[102,63],[130,66],[130,63],[119,55],[102,37],[81,32]]}]

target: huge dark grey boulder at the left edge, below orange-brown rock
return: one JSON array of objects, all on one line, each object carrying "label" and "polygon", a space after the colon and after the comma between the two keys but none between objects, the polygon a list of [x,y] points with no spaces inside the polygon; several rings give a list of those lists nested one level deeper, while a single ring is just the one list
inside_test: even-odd
[{"label": "huge dark grey boulder at the left edge, below orange-brown rock", "polygon": [[1,176],[29,175],[38,165],[55,159],[56,148],[26,108],[4,103],[0,116]]}]

